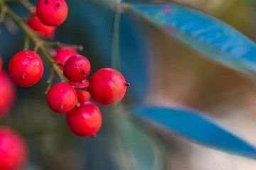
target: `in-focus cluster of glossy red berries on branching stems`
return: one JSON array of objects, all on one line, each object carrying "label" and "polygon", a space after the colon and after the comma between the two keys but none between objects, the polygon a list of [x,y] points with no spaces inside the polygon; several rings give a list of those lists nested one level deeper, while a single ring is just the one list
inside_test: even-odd
[{"label": "in-focus cluster of glossy red berries on branching stems", "polygon": [[[31,13],[27,25],[39,32],[41,38],[50,38],[55,27],[63,23],[67,16],[68,6],[64,0],[39,0],[36,12]],[[46,87],[48,106],[56,113],[67,113],[68,127],[76,135],[95,136],[102,117],[97,105],[89,101],[90,97],[100,105],[111,105],[122,100],[129,84],[121,73],[112,68],[97,70],[87,81],[91,69],[87,57],[79,55],[74,45],[55,45],[58,48],[53,57],[46,54],[53,73]],[[40,47],[44,55],[49,48],[53,50],[49,45]],[[43,76],[43,62],[36,51],[23,50],[11,58],[8,72],[16,85],[33,86]],[[61,82],[51,86],[54,75]]]}]

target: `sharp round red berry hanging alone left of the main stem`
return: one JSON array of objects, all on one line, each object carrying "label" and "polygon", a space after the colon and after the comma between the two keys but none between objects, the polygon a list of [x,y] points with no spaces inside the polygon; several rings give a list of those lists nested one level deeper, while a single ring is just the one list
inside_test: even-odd
[{"label": "sharp round red berry hanging alone left of the main stem", "polygon": [[33,86],[43,76],[43,62],[36,52],[23,50],[11,58],[8,73],[18,86]]}]

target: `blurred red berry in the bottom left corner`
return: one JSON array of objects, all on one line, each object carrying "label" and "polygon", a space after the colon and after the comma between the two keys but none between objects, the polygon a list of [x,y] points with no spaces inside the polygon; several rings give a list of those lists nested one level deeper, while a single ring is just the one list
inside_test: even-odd
[{"label": "blurred red berry in the bottom left corner", "polygon": [[27,147],[23,138],[14,130],[0,127],[0,169],[21,169],[27,158]]}]

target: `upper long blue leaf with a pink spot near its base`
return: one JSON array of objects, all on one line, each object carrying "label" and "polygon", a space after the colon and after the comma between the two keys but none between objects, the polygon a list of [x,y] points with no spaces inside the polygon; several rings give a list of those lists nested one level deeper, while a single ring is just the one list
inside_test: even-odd
[{"label": "upper long blue leaf with a pink spot near its base", "polygon": [[128,9],[210,60],[241,72],[256,71],[255,43],[217,18],[174,4],[129,5]]}]

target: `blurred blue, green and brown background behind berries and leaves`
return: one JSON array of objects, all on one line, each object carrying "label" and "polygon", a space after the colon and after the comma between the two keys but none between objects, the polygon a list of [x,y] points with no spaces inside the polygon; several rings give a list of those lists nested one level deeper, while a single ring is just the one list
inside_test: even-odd
[{"label": "blurred blue, green and brown background behind berries and leaves", "polygon": [[[253,0],[166,2],[210,13],[256,40],[256,2]],[[57,28],[55,40],[83,45],[80,53],[90,60],[92,73],[111,67],[111,8],[102,5],[100,0],[67,0],[67,4],[68,19]],[[10,6],[18,15],[28,15],[21,4],[14,2]],[[14,34],[1,25],[0,54],[5,69],[11,57],[23,49],[21,30],[12,26],[11,32]],[[45,72],[38,84],[29,88],[16,86],[15,106],[1,125],[14,128],[25,138],[29,158],[24,169],[256,169],[252,159],[209,149],[151,127],[130,118],[126,109],[156,104],[194,108],[238,130],[238,134],[256,144],[255,85],[247,75],[205,60],[132,13],[122,13],[119,37],[121,72],[131,86],[121,106],[101,107],[103,125],[95,139],[76,137],[68,129],[65,115],[48,108],[43,94],[50,74],[46,60],[43,60]]]}]

